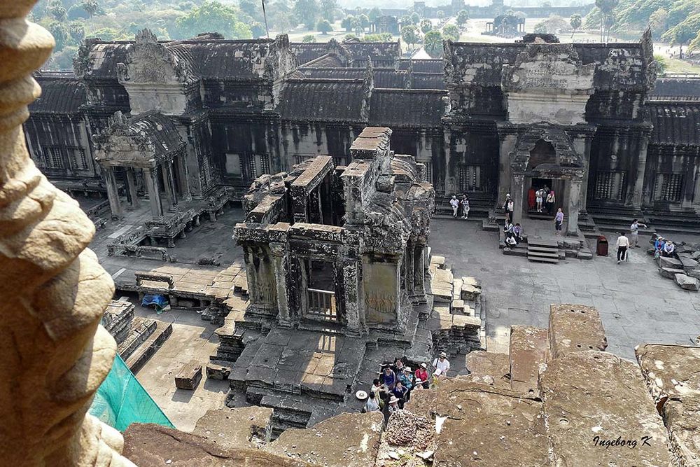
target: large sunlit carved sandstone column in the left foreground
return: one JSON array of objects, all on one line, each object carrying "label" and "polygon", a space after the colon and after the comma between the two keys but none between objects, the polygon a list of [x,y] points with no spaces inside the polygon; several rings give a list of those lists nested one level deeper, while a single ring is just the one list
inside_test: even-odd
[{"label": "large sunlit carved sandstone column in the left foreground", "polygon": [[9,466],[133,466],[118,431],[87,415],[116,344],[99,326],[114,293],[85,249],[94,225],[29,158],[21,125],[31,78],[54,45],[25,20],[32,0],[0,4],[0,459]]}]

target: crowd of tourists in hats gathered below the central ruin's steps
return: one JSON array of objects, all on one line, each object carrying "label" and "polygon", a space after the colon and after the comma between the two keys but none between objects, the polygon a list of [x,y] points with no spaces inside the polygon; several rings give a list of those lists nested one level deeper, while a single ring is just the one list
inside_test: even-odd
[{"label": "crowd of tourists in hats gathered below the central ruin's steps", "polygon": [[402,409],[411,398],[412,391],[430,389],[447,376],[449,360],[447,354],[433,360],[433,365],[423,362],[415,371],[406,365],[403,358],[396,358],[393,363],[381,365],[379,377],[374,378],[363,412],[384,412],[388,418],[392,412]]}]

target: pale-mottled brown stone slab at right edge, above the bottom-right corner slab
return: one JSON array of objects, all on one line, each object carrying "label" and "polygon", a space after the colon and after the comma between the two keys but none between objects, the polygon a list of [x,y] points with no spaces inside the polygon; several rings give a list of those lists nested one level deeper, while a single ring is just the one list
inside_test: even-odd
[{"label": "pale-mottled brown stone slab at right edge, above the bottom-right corner slab", "polygon": [[643,344],[634,349],[637,362],[654,400],[700,393],[700,347]]}]

